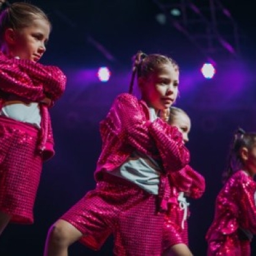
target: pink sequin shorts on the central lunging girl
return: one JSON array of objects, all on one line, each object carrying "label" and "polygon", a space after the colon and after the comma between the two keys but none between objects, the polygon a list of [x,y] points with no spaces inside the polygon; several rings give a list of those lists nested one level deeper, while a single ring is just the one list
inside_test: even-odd
[{"label": "pink sequin shorts on the central lunging girl", "polygon": [[80,230],[80,242],[93,250],[113,233],[114,255],[160,256],[164,215],[155,211],[156,196],[122,178],[104,177],[61,219]]}]

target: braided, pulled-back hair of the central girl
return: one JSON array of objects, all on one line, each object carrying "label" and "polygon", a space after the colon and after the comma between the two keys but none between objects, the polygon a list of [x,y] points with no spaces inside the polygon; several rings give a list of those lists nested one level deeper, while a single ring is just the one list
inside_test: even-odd
[{"label": "braided, pulled-back hair of the central girl", "polygon": [[155,72],[160,66],[171,64],[178,70],[178,64],[172,58],[161,54],[145,54],[141,50],[133,57],[133,69],[129,93],[133,93],[134,79],[147,78],[152,72]]}]

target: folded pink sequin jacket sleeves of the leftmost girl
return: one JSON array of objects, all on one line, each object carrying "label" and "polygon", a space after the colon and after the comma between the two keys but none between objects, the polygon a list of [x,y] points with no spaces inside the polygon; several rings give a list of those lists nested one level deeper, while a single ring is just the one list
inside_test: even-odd
[{"label": "folded pink sequin jacket sleeves of the leftmost girl", "polygon": [[65,90],[66,77],[58,67],[25,59],[10,59],[0,52],[0,89],[31,101],[46,96],[56,101]]}]

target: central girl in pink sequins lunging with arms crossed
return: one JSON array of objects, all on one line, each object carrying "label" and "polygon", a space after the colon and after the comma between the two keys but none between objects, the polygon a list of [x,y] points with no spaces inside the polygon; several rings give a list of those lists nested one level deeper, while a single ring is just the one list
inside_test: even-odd
[{"label": "central girl in pink sequins lunging with arms crossed", "polygon": [[[141,100],[131,94],[135,77]],[[77,240],[100,250],[111,233],[114,255],[162,255],[171,193],[168,173],[189,163],[182,134],[157,117],[176,100],[178,83],[173,59],[136,54],[130,94],[120,94],[100,123],[96,189],[50,228],[45,256],[67,256]]]}]

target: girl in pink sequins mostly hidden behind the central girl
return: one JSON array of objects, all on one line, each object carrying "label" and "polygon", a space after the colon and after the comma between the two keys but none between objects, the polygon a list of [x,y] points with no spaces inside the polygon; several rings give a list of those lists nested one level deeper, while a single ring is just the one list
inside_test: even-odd
[{"label": "girl in pink sequins mostly hidden behind the central girl", "polygon": [[[169,111],[161,111],[163,120],[178,128],[184,143],[188,142],[191,120],[187,113],[177,107],[170,107]],[[205,191],[205,180],[202,175],[186,165],[181,171],[169,173],[171,197],[165,215],[163,251],[164,255],[189,256],[187,217],[189,217],[189,203],[186,198],[200,198]],[[167,250],[169,248],[169,250]]]}]

